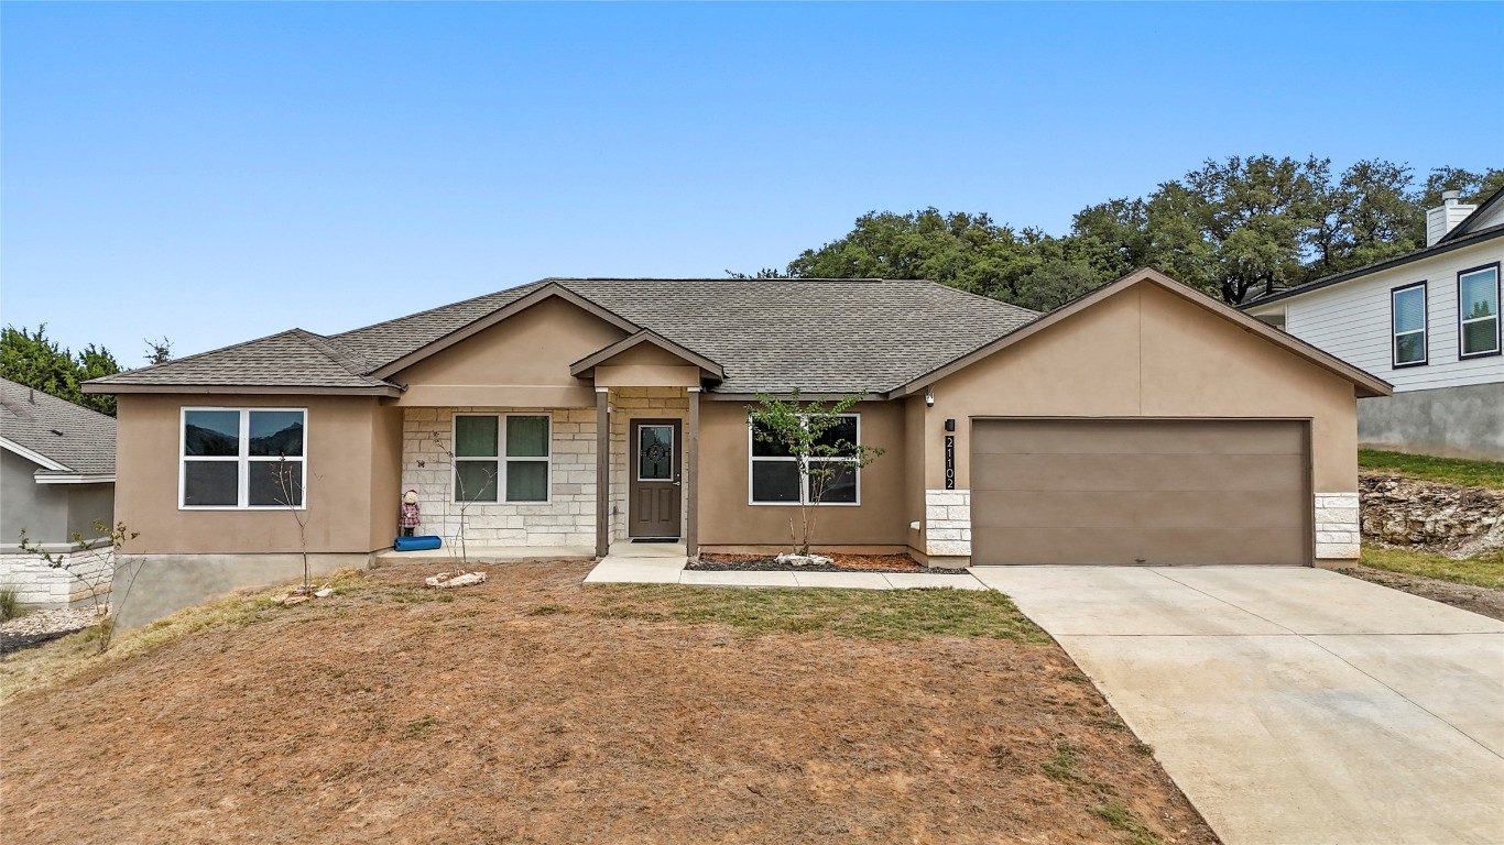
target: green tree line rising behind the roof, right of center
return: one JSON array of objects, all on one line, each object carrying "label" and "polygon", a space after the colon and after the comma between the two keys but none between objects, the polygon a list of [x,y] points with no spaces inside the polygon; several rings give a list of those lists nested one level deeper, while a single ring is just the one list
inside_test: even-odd
[{"label": "green tree line rising behind the roof, right of center", "polygon": [[869,212],[856,227],[805,250],[784,269],[735,278],[928,278],[1048,311],[1123,274],[1155,266],[1223,302],[1360,268],[1426,245],[1426,209],[1442,191],[1478,203],[1504,188],[1504,170],[1268,155],[1208,159],[1139,198],[1081,209],[1051,236],[991,217]]}]

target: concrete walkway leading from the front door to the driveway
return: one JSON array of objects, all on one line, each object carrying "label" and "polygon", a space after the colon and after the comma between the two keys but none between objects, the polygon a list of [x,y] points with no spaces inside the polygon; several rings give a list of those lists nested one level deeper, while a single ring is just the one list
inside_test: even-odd
[{"label": "concrete walkway leading from the front door to the driveway", "polygon": [[[677,549],[677,552],[675,552]],[[967,574],[931,573],[738,573],[686,570],[683,546],[618,543],[585,576],[585,583],[686,583],[693,586],[833,586],[844,589],[913,589],[951,586],[987,589]]]}]

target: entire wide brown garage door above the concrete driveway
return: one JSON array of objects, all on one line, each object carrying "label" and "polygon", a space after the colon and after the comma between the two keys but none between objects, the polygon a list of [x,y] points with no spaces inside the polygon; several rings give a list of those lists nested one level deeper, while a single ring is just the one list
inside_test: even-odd
[{"label": "entire wide brown garage door above the concrete driveway", "polygon": [[1310,562],[1305,422],[976,419],[972,562]]}]

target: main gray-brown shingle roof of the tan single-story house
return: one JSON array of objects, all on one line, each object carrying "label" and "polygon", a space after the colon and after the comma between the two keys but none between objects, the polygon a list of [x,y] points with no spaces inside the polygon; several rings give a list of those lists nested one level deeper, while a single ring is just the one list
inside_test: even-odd
[{"label": "main gray-brown shingle roof of the tan single-story house", "polygon": [[93,383],[379,386],[370,373],[549,284],[720,364],[720,392],[887,391],[1039,316],[931,281],[553,278],[329,337],[293,329]]}]

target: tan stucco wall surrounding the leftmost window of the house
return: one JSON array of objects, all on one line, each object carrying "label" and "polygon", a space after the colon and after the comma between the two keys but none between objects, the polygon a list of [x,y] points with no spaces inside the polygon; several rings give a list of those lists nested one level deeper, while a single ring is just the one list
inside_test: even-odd
[{"label": "tan stucco wall surrounding the leftmost window of the house", "polygon": [[[128,553],[298,552],[298,523],[274,510],[180,510],[177,463],[182,407],[307,407],[308,550],[365,553],[391,543],[396,516],[378,526],[374,454],[393,448],[387,410],[374,397],[132,395],[119,397],[116,517],[140,537]],[[396,504],[391,504],[396,508]]]}]

